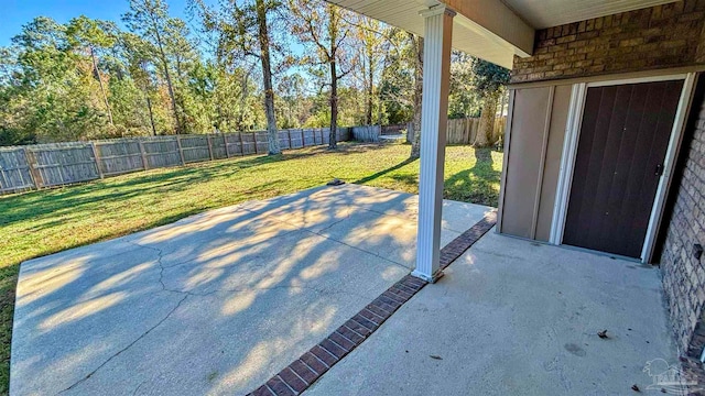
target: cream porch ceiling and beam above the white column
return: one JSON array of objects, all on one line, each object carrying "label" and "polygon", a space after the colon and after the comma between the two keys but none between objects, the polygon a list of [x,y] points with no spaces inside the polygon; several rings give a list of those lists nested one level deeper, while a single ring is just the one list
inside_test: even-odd
[{"label": "cream porch ceiling and beam above the white column", "polygon": [[457,12],[453,47],[507,68],[530,56],[534,30],[674,2],[674,0],[327,0],[364,15],[424,34],[419,12],[445,3]]}]

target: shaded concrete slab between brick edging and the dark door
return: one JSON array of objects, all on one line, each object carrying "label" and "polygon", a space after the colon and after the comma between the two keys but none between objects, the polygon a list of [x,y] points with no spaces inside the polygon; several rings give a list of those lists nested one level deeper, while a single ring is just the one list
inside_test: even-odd
[{"label": "shaded concrete slab between brick edging and the dark door", "polygon": [[490,232],[445,273],[305,394],[661,394],[677,361],[654,267]]}]

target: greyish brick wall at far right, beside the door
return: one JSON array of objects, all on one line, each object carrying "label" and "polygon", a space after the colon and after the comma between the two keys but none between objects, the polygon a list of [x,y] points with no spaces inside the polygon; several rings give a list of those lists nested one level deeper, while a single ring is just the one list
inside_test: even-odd
[{"label": "greyish brick wall at far right, beside the door", "polygon": [[[703,77],[701,77],[703,78]],[[705,86],[701,80],[701,88]],[[672,186],[672,211],[661,254],[663,286],[676,341],[688,356],[705,346],[705,256],[694,256],[694,244],[705,245],[705,100],[695,97],[681,150],[680,175]],[[668,208],[666,208],[668,210]]]}]

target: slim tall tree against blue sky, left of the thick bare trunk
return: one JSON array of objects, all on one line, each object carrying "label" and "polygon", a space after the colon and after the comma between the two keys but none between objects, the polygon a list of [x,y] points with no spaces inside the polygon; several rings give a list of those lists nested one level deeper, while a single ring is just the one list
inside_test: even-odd
[{"label": "slim tall tree against blue sky, left of the thick bare trunk", "polygon": [[147,43],[151,44],[154,56],[161,64],[162,73],[166,79],[169,96],[174,113],[175,131],[182,133],[183,125],[176,108],[176,96],[172,82],[171,65],[166,53],[166,42],[176,41],[176,20],[169,16],[169,7],[162,0],[130,0],[130,11],[122,15],[122,21],[130,31],[139,34]]}]

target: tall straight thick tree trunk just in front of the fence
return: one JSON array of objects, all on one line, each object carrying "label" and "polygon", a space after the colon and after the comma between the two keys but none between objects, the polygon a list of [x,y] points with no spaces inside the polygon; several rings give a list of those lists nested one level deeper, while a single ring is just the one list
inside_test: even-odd
[{"label": "tall straight thick tree trunk just in front of the fence", "polygon": [[264,80],[264,113],[267,114],[267,141],[269,155],[280,154],[276,118],[274,116],[274,89],[272,88],[272,67],[269,53],[269,32],[267,30],[267,6],[264,0],[257,0],[257,23],[259,24],[260,61]]}]

